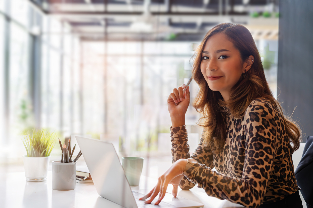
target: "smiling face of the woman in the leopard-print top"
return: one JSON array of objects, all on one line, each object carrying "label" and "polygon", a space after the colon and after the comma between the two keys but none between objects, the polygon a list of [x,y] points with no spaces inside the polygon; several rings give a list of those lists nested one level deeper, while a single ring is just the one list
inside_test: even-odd
[{"label": "smiling face of the woman in the leopard-print top", "polygon": [[201,72],[209,88],[219,91],[224,100],[229,99],[229,92],[244,73],[245,65],[240,52],[223,33],[211,36],[206,42],[202,51]]}]

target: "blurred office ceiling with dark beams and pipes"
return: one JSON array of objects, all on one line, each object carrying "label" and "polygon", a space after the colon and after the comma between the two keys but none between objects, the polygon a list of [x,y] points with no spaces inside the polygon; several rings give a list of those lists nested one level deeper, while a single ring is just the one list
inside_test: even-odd
[{"label": "blurred office ceiling with dark beams and pipes", "polygon": [[[85,40],[199,41],[209,29],[221,22],[249,25],[251,12],[278,10],[277,0],[29,0],[29,2],[47,15],[68,23],[72,32]],[[266,21],[265,24],[277,22],[278,25],[275,18]]]}]

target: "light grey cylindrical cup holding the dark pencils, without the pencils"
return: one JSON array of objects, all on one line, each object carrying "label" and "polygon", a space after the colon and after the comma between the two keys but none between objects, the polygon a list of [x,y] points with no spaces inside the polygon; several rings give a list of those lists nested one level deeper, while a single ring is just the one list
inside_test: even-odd
[{"label": "light grey cylindrical cup holding the dark pencils, without the pencils", "polygon": [[76,186],[76,162],[52,161],[52,189],[73,190]]}]

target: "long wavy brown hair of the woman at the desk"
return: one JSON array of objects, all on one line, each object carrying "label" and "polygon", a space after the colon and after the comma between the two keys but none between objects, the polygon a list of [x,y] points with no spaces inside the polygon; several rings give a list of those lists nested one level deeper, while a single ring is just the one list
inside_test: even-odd
[{"label": "long wavy brown hair of the woman at the desk", "polygon": [[[203,48],[208,39],[217,33],[223,33],[229,38],[234,47],[239,50],[242,62],[247,60],[249,56],[254,56],[253,65],[247,71],[246,76],[241,77],[233,86],[228,101],[224,101],[219,91],[212,91],[209,88],[200,69]],[[193,101],[193,107],[202,116],[198,125],[204,128],[203,142],[206,148],[215,154],[221,152],[225,145],[227,111],[230,111],[235,118],[243,118],[249,104],[257,98],[269,100],[279,112],[280,115],[278,116],[284,120],[287,136],[290,143],[293,144],[293,146],[290,145],[291,154],[299,148],[302,137],[299,125],[284,115],[280,103],[269,89],[259,51],[246,27],[233,23],[222,23],[213,27],[204,36],[193,58],[192,77],[200,87]]]}]

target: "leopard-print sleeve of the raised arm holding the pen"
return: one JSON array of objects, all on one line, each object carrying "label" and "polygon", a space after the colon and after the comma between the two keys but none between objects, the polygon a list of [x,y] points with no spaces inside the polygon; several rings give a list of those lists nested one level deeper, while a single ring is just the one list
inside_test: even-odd
[{"label": "leopard-print sleeve of the raised arm holding the pen", "polygon": [[[186,126],[179,126],[170,128],[171,130],[171,142],[172,142],[172,156],[173,163],[179,159],[187,159],[190,157],[189,145],[188,145],[188,133]],[[197,149],[191,155],[191,158],[197,160],[200,164],[213,168],[213,153],[203,147],[203,134],[200,139],[200,143]],[[184,176],[180,182],[180,188],[182,190],[189,190],[196,184],[188,181]]]}]

